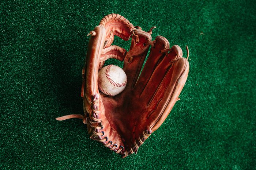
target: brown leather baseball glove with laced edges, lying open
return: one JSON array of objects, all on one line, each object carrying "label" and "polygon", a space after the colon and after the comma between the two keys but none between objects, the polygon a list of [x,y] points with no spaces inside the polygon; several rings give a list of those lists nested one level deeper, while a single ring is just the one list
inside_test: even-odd
[{"label": "brown leather baseball glove with laced edges, lying open", "polygon": [[[188,76],[189,63],[182,58],[181,48],[177,45],[170,48],[163,36],[151,41],[153,28],[145,32],[123,16],[105,16],[89,34],[82,73],[84,116],[56,118],[83,119],[91,139],[123,158],[136,153],[144,140],[163,123],[179,99]],[[132,38],[130,50],[112,46],[114,35],[123,40]],[[141,72],[149,48],[150,54]],[[128,79],[124,91],[116,96],[107,96],[98,89],[98,70],[109,58],[124,62],[123,70]]]}]

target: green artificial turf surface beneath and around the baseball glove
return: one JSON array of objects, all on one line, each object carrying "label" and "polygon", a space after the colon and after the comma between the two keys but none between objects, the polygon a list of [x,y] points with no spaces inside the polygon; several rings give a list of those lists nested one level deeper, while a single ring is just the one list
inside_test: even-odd
[{"label": "green artificial turf surface beneath and around the baseball glove", "polygon": [[[181,100],[125,159],[54,119],[82,113],[86,35],[109,13],[190,49]],[[0,169],[256,169],[255,29],[249,0],[0,1]]]}]

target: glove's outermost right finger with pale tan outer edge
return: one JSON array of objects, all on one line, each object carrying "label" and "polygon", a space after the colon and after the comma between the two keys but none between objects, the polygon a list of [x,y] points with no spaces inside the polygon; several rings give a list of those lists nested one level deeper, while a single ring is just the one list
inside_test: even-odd
[{"label": "glove's outermost right finger with pale tan outer edge", "polygon": [[[137,123],[140,124],[139,128],[141,130],[151,129],[154,132],[163,123],[176,103],[187,80],[188,70],[189,63],[185,58],[178,59],[168,70],[164,81],[155,92],[152,102],[147,106],[147,115],[142,116]],[[138,132],[140,131],[138,130]]]}]

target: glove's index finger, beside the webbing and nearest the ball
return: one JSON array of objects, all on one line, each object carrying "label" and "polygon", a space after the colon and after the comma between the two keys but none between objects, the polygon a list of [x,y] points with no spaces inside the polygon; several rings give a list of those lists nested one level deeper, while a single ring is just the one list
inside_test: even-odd
[{"label": "glove's index finger, beside the webbing and nearest the ball", "polygon": [[149,46],[145,44],[151,41],[151,35],[142,30],[135,30],[132,36],[131,47],[124,58],[123,70],[127,75],[125,90],[130,91],[138,80],[143,62],[147,56]]}]

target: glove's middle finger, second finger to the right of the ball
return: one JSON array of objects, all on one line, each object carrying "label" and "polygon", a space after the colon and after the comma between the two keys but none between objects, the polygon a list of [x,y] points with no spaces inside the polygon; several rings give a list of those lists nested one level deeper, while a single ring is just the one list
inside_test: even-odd
[{"label": "glove's middle finger, second finger to the right of the ball", "polygon": [[154,45],[151,46],[150,54],[144,65],[139,80],[135,85],[134,91],[140,95],[156,69],[158,63],[163,59],[164,53],[159,53],[161,50],[169,49],[169,42],[163,36],[157,36],[155,38]]}]

